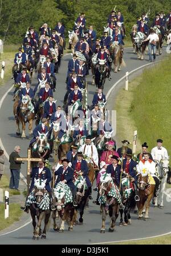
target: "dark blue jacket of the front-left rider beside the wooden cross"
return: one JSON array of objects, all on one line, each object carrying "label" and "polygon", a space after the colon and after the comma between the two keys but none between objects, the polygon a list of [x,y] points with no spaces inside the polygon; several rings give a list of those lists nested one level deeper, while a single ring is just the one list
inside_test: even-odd
[{"label": "dark blue jacket of the front-left rider beside the wooden cross", "polygon": [[35,179],[40,178],[40,179],[43,179],[43,181],[45,179],[47,179],[45,189],[48,192],[51,192],[51,188],[50,188],[50,185],[49,185],[49,182],[52,179],[50,169],[48,169],[47,167],[44,167],[43,170],[42,170],[42,173],[40,173],[40,176],[39,176],[39,167],[35,167],[31,171],[30,178],[32,178],[31,186],[30,186],[30,189],[29,189],[30,192],[34,188],[34,178]]}]

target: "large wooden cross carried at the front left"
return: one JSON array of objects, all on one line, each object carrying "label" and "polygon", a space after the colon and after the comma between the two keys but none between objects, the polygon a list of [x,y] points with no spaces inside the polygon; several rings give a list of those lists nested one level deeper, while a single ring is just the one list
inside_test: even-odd
[{"label": "large wooden cross carried at the front left", "polygon": [[29,194],[29,186],[30,186],[30,169],[31,162],[39,162],[43,161],[43,158],[31,158],[31,148],[27,149],[27,157],[19,157],[15,158],[16,161],[26,161],[27,162],[27,195]]}]

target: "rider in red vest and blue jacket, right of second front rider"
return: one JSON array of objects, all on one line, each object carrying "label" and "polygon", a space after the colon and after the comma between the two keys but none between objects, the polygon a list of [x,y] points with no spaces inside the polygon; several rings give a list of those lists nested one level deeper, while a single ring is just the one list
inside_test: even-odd
[{"label": "rider in red vest and blue jacket, right of second front rider", "polygon": [[86,178],[86,184],[89,191],[89,199],[92,199],[91,193],[91,182],[88,178],[88,166],[86,160],[83,159],[83,153],[78,152],[76,154],[76,160],[72,162],[72,169],[74,170],[74,178],[77,179],[78,175],[83,175],[83,178]]}]

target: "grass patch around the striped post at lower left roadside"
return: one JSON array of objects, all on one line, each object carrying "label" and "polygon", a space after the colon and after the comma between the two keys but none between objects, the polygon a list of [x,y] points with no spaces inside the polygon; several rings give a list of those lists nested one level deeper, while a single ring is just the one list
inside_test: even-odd
[{"label": "grass patch around the striped post at lower left roadside", "polygon": [[9,218],[4,219],[5,205],[0,205],[0,230],[13,224],[15,221],[19,221],[22,211],[18,203],[9,204]]}]

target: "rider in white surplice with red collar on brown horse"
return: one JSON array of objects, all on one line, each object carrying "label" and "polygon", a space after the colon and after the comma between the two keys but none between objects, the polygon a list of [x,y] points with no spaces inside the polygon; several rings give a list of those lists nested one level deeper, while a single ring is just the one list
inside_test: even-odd
[{"label": "rider in white surplice with red collar on brown horse", "polygon": [[143,172],[144,170],[148,171],[148,173],[150,175],[152,175],[152,177],[154,178],[154,181],[156,183],[155,185],[155,192],[154,192],[154,197],[157,197],[157,191],[158,191],[158,186],[159,186],[159,179],[158,177],[155,175],[156,173],[156,164],[149,159],[150,154],[148,152],[144,153],[144,159],[142,159],[139,164],[137,165],[137,179],[139,178],[139,174],[141,172]]}]

